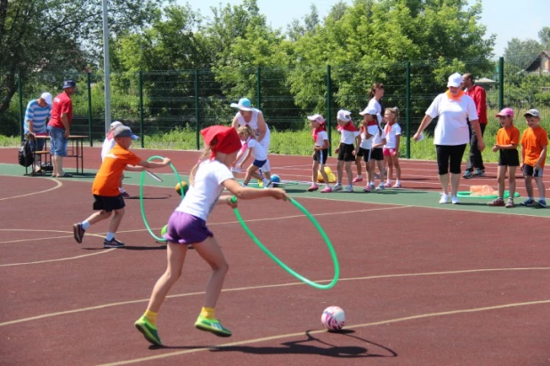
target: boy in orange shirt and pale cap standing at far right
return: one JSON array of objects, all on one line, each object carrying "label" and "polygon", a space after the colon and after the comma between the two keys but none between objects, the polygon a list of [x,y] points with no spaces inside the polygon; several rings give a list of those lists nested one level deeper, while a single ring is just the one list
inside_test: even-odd
[{"label": "boy in orange shirt and pale cap standing at far right", "polygon": [[[544,128],[540,127],[540,113],[537,109],[530,109],[524,115],[529,128],[522,134],[522,171],[525,177],[525,189],[529,199],[522,203],[523,206],[537,205],[546,207],[545,184],[542,181],[542,173],[545,167],[546,147],[548,147],[548,135]],[[537,202],[533,198],[533,183],[535,178],[537,182],[538,194]]]}]

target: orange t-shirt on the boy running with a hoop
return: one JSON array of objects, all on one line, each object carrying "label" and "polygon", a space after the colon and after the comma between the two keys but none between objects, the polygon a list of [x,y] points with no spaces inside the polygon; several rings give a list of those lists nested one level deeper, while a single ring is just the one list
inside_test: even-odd
[{"label": "orange t-shirt on the boy running with a hoop", "polygon": [[93,195],[103,195],[106,197],[120,195],[118,183],[125,166],[127,164],[136,165],[141,161],[142,159],[130,150],[126,150],[118,144],[115,145],[103,158],[100,170],[95,175],[95,179],[93,179]]}]

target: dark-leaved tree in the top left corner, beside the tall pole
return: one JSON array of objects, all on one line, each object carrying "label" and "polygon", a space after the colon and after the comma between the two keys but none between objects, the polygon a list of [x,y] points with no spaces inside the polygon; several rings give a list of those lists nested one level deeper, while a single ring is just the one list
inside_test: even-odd
[{"label": "dark-leaved tree in the top left corner, beside the tall pole", "polygon": [[[109,31],[119,34],[150,20],[161,0],[110,0]],[[101,2],[88,0],[0,0],[0,114],[24,80],[50,72],[63,76],[99,63]],[[59,87],[59,86],[58,86]]]}]

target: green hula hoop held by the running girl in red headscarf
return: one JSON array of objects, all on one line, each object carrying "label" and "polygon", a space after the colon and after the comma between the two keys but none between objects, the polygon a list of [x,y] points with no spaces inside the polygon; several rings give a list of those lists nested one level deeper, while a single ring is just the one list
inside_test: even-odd
[{"label": "green hula hoop held by the running girl in red headscarf", "polygon": [[[289,197],[290,198],[290,197]],[[231,202],[232,203],[236,203],[237,202],[237,197],[233,195],[233,197],[231,198]],[[320,289],[320,290],[328,290],[332,287],[334,287],[334,285],[336,284],[336,282],[338,281],[338,277],[340,276],[340,266],[338,265],[338,258],[336,257],[336,251],[334,249],[334,247],[332,246],[332,243],[330,243],[330,240],[328,239],[328,236],[327,234],[325,234],[325,231],[323,230],[322,227],[320,227],[319,225],[319,222],[317,222],[317,220],[315,218],[313,218],[313,216],[311,215],[311,213],[307,210],[305,210],[305,208],[300,204],[300,203],[297,203],[295,201],[295,199],[293,198],[290,198],[290,202],[292,204],[295,205],[295,207],[297,207],[300,211],[303,212],[303,214],[308,218],[310,219],[311,223],[317,227],[317,230],[319,231],[319,234],[323,237],[323,239],[325,240],[325,243],[327,243],[327,247],[328,247],[328,251],[330,251],[330,256],[332,258],[332,262],[334,263],[334,267],[335,267],[335,276],[334,278],[332,279],[332,281],[328,284],[319,284],[317,282],[313,282],[307,278],[305,278],[303,275],[300,275],[298,274],[297,272],[295,272],[295,270],[293,270],[292,268],[288,267],[286,264],[284,264],[280,259],[278,259],[277,257],[275,257],[275,255],[273,255],[273,253],[271,253],[271,251],[269,249],[267,249],[262,242],[260,242],[258,240],[258,238],[254,235],[254,233],[250,230],[250,228],[248,228],[247,224],[245,223],[245,220],[240,216],[240,213],[239,213],[239,210],[237,210],[237,207],[235,207],[233,209],[233,211],[235,212],[235,216],[237,216],[237,219],[239,220],[239,223],[241,225],[241,227],[243,227],[245,229],[245,231],[247,232],[247,235],[250,236],[252,238],[252,240],[254,241],[254,243],[256,243],[256,245],[258,247],[260,247],[260,249],[268,255],[269,258],[271,258],[275,263],[277,263],[279,265],[279,267],[283,268],[285,271],[287,271],[287,273],[289,275],[293,275],[295,276],[295,278],[297,278],[298,280],[306,283],[306,284],[309,284],[310,286],[316,288],[316,289]]]}]

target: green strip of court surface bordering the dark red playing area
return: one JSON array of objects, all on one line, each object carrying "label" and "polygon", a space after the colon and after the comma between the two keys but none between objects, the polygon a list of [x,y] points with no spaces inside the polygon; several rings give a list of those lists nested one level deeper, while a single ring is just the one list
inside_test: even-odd
[{"label": "green strip of court surface bordering the dark red playing area", "polygon": [[[18,164],[7,164],[0,163],[0,175],[4,176],[15,176],[23,177],[25,169]],[[154,186],[154,187],[171,187],[174,188],[177,179],[174,176],[174,173],[157,173],[156,174],[163,179],[163,182],[158,182],[149,176],[145,175],[144,185],[145,186]],[[82,182],[92,182],[95,176],[95,171],[85,170],[84,175],[75,175],[73,178],[62,179],[70,181],[82,181]],[[25,177],[27,179],[34,179],[34,177]],[[135,189],[131,190],[133,195],[138,195],[138,187],[140,185],[140,180],[142,178],[142,173],[135,173],[130,171],[125,171],[125,186],[135,186]],[[187,181],[186,176],[181,176],[182,181]],[[60,179],[61,180],[61,179]],[[337,200],[337,201],[350,201],[350,202],[364,202],[364,203],[379,203],[379,204],[391,204],[391,205],[400,205],[400,206],[415,206],[415,207],[426,207],[433,208],[438,210],[458,210],[458,211],[476,211],[476,212],[488,212],[488,213],[501,213],[509,215],[527,215],[533,217],[546,217],[550,218],[550,208],[542,209],[538,207],[523,207],[520,205],[526,197],[516,197],[515,203],[516,207],[513,209],[506,209],[505,207],[489,207],[487,203],[489,199],[482,198],[460,198],[461,204],[440,204],[440,194],[438,192],[423,191],[416,189],[392,189],[388,188],[382,192],[371,192],[364,193],[362,191],[362,186],[354,187],[354,193],[345,193],[337,192],[330,194],[321,194],[320,190],[316,192],[307,192],[307,187],[309,183],[298,183],[290,184],[283,186],[287,191],[288,195],[293,197],[307,197],[315,199],[323,199],[327,201]],[[330,203],[328,203],[328,206]]]}]

